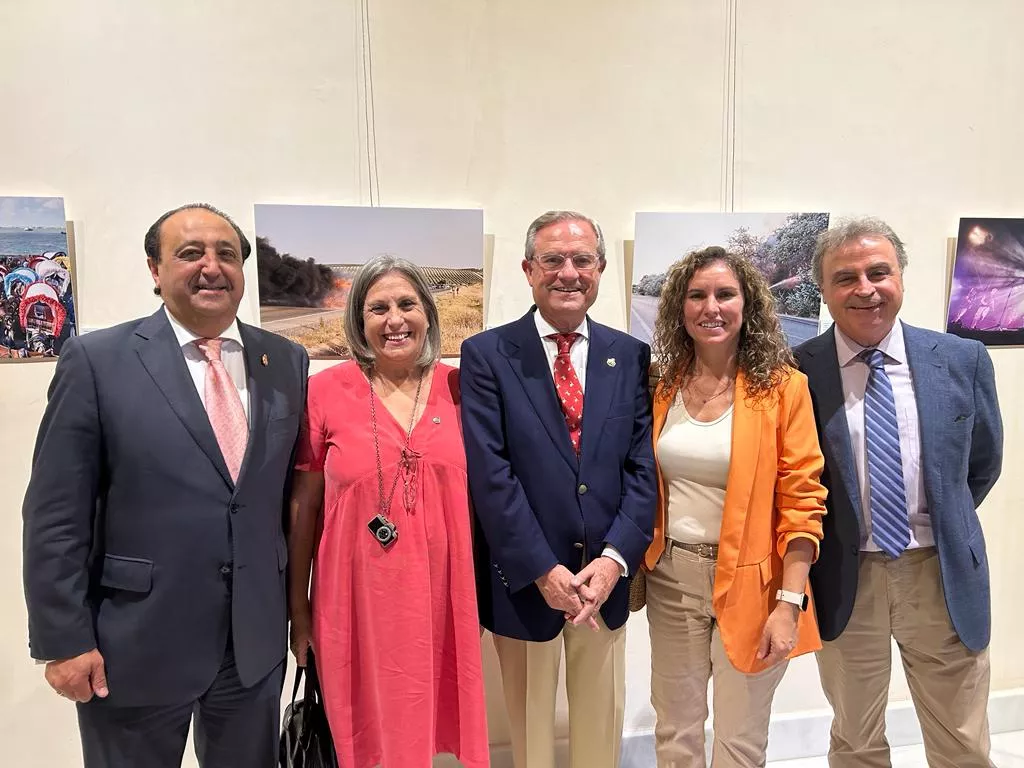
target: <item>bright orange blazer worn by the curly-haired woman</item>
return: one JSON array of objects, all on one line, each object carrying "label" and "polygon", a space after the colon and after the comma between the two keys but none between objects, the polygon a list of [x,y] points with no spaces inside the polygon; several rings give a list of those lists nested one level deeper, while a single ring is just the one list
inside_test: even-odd
[{"label": "bright orange blazer worn by the curly-haired woman", "polygon": [[[655,458],[676,391],[663,381],[654,392]],[[810,539],[817,558],[827,493],[818,481],[823,466],[807,377],[790,370],[774,393],[754,401],[746,397],[742,372],[737,374],[713,605],[725,651],[740,672],[765,669],[757,658],[758,643],[782,586],[782,556],[790,542]],[[659,464],[657,480],[654,540],[644,556],[647,570],[665,552],[668,502]],[[809,582],[806,589],[811,598]],[[813,599],[797,627],[791,658],[821,647]]]}]

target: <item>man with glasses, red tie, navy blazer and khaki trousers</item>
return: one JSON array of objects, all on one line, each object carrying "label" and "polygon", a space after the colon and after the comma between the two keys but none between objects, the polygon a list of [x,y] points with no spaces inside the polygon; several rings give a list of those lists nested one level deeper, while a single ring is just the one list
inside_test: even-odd
[{"label": "man with glasses, red tie, navy blazer and khaki trousers", "polygon": [[517,768],[555,765],[563,643],[571,765],[618,764],[625,577],[650,543],[656,486],[650,349],[587,317],[604,267],[595,222],[544,214],[522,262],[537,306],[462,346],[480,621]]}]

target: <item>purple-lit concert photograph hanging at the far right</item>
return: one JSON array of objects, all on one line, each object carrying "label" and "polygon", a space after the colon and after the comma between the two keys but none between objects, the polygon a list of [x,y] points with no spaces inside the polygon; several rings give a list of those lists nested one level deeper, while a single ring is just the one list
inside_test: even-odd
[{"label": "purple-lit concert photograph hanging at the far right", "polygon": [[1024,219],[961,219],[946,331],[1024,345]]}]

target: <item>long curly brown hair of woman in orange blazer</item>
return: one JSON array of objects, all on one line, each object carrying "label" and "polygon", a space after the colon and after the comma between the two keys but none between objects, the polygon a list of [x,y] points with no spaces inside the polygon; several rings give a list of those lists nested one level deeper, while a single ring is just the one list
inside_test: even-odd
[{"label": "long curly brown hair of woman in orange blazer", "polygon": [[787,376],[793,353],[782,334],[768,283],[748,259],[720,246],[693,251],[669,269],[654,322],[653,351],[662,365],[662,381],[674,391],[693,373],[696,352],[683,325],[686,290],[698,269],[716,262],[732,270],[743,294],[737,362],[746,378],[748,396],[760,399],[772,393]]}]

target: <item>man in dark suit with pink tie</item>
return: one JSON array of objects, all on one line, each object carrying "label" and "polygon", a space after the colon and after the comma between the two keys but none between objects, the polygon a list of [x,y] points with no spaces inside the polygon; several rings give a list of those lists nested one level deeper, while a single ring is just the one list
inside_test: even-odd
[{"label": "man in dark suit with pink tie", "polygon": [[236,318],[251,247],[194,204],[145,237],[164,306],[61,350],[25,498],[32,655],[86,768],[276,765],[283,531],[305,351]]}]

